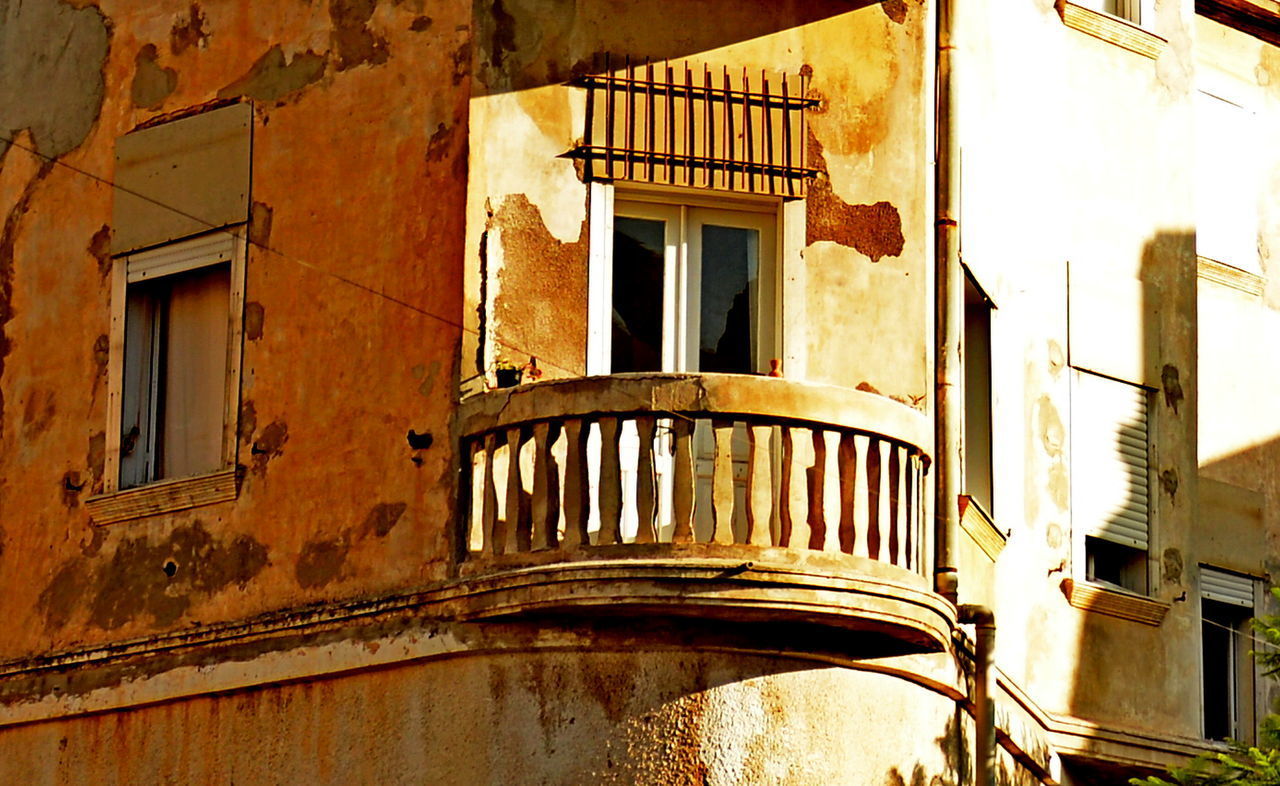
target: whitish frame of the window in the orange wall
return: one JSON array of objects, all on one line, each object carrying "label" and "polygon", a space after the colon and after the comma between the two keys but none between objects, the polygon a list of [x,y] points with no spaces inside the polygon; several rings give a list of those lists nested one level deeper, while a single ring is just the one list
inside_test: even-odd
[{"label": "whitish frame of the window in the orange wall", "polygon": [[[230,242],[225,239],[230,238]],[[155,248],[120,255],[111,268],[111,334],[108,361],[108,428],[102,490],[111,494],[132,492],[148,485],[182,480],[200,480],[207,475],[232,470],[237,461],[237,422],[239,417],[239,380],[243,353],[244,268],[247,257],[246,225],[238,224],[211,233],[165,243]],[[122,488],[120,448],[124,407],[125,321],[129,284],[177,275],[200,268],[229,265],[229,309],[227,315],[227,370],[223,396],[221,466],[195,479],[155,477],[140,485]]]}]

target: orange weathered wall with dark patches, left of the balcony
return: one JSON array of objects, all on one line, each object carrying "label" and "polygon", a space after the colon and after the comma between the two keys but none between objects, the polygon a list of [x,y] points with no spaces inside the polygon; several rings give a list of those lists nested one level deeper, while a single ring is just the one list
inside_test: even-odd
[{"label": "orange weathered wall with dark patches, left of the balcony", "polygon": [[[18,133],[0,152],[0,658],[442,575],[470,6],[50,1],[0,18],[0,127]],[[218,100],[255,109],[239,499],[96,529],[115,141]]]}]

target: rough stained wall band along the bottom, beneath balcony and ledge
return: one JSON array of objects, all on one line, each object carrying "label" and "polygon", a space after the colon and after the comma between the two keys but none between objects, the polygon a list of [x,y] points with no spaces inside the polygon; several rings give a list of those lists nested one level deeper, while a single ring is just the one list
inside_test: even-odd
[{"label": "rough stained wall band along the bottom, beneath balcony and ledge", "polygon": [[[904,680],[786,658],[516,650],[8,730],[0,780],[961,782],[963,717]],[[891,727],[913,731],[860,744]]]}]

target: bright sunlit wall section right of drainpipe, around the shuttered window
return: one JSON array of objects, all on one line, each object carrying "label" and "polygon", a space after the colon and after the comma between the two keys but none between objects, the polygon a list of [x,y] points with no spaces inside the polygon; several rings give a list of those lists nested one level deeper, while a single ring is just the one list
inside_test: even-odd
[{"label": "bright sunlit wall section right of drainpipe, around the shuttered window", "polygon": [[[1151,59],[1050,0],[966,3],[961,255],[993,297],[997,662],[1050,712],[1199,735],[1192,3],[1160,3]],[[1147,385],[1155,448],[1148,626],[1073,608],[1073,366]],[[1085,492],[1085,489],[1076,489]],[[1087,493],[1087,492],[1085,492]],[[972,563],[983,559],[972,553]],[[973,556],[977,554],[977,556]],[[980,576],[980,573],[979,573]]]}]

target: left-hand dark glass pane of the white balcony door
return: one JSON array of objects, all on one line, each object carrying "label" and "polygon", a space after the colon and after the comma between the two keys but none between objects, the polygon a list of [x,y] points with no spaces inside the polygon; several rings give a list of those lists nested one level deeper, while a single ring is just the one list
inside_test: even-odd
[{"label": "left-hand dark glass pane of the white balcony door", "polygon": [[613,219],[612,371],[662,370],[666,221]]}]

